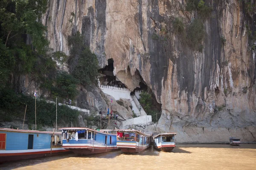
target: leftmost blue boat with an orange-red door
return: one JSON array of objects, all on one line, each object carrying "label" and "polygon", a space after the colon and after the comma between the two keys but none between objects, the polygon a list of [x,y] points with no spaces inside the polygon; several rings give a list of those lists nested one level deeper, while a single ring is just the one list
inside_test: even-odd
[{"label": "leftmost blue boat with an orange-red door", "polygon": [[0,128],[0,163],[67,153],[61,132]]}]

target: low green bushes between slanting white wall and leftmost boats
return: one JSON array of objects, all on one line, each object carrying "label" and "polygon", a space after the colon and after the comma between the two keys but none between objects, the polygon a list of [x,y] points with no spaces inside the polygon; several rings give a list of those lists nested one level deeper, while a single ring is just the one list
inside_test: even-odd
[{"label": "low green bushes between slanting white wall and leftmost boats", "polygon": [[[11,121],[12,116],[23,119],[26,105],[27,123],[29,125],[33,125],[35,124],[35,98],[24,96],[23,94],[17,95],[9,88],[0,89],[0,119],[3,119],[2,121]],[[56,105],[54,103],[47,103],[43,99],[37,99],[36,109],[38,125],[52,126],[55,124]],[[58,106],[58,123],[61,121],[73,121],[76,119],[78,114],[78,111],[74,111],[65,105]]]}]

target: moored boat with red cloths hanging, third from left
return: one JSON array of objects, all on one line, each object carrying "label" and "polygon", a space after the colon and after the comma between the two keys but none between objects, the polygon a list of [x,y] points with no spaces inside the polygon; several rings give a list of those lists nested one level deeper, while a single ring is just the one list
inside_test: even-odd
[{"label": "moored boat with red cloths hanging, third from left", "polygon": [[124,153],[137,153],[149,147],[152,133],[140,132],[138,130],[116,130],[117,148]]}]

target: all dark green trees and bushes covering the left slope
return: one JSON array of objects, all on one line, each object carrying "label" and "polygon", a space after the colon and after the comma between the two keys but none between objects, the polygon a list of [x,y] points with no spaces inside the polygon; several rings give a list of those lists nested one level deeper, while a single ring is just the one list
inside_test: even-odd
[{"label": "all dark green trees and bushes covering the left slope", "polygon": [[[52,91],[52,96],[58,99],[76,95],[78,81],[67,73],[56,71],[55,61],[63,64],[67,56],[61,51],[49,55],[47,28],[40,22],[47,7],[48,0],[2,0],[0,3],[0,119],[5,121],[12,120],[13,116],[22,117],[26,105],[29,124],[35,121],[34,98],[15,94],[18,89],[7,88],[12,86],[8,84],[11,76],[28,75],[36,85]],[[55,109],[54,104],[38,100],[38,124],[52,125]],[[77,112],[59,106],[58,115],[72,121]]]}]

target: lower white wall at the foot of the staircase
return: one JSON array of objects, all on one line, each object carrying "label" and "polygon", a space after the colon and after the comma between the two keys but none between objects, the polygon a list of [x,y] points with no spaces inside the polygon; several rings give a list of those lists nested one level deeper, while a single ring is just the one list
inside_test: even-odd
[{"label": "lower white wall at the foot of the staircase", "polygon": [[149,125],[152,122],[151,115],[140,116],[134,119],[128,119],[122,122],[122,127],[126,127],[129,125]]}]

